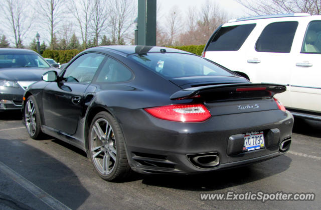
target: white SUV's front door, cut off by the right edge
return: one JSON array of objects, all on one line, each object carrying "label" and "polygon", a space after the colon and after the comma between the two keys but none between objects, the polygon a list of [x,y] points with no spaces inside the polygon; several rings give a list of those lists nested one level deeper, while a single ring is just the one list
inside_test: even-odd
[{"label": "white SUV's front door, cut off by the right edge", "polygon": [[294,61],[290,64],[290,108],[320,112],[321,18],[312,16],[300,21],[298,31],[292,47]]}]

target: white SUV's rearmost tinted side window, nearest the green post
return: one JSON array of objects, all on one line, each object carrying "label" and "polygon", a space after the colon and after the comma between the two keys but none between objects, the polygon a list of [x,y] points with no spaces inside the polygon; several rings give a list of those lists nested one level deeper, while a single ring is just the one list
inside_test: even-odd
[{"label": "white SUV's rearmost tinted side window, nearest the green post", "polygon": [[241,48],[256,24],[222,27],[213,35],[206,51],[237,51]]}]

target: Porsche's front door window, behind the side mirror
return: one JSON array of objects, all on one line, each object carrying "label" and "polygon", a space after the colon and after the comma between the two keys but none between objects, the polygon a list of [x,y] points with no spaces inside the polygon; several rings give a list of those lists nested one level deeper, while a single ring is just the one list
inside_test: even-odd
[{"label": "Porsche's front door window, behind the side mirror", "polygon": [[78,57],[64,73],[64,80],[68,82],[90,83],[99,65],[105,58],[98,53],[87,53]]}]

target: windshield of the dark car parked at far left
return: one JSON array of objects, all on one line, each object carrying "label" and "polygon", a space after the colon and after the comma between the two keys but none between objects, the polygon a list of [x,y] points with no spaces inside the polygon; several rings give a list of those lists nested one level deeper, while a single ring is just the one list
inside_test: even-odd
[{"label": "windshield of the dark car parked at far left", "polygon": [[10,52],[0,53],[0,68],[36,67],[49,68],[48,63],[36,53]]}]

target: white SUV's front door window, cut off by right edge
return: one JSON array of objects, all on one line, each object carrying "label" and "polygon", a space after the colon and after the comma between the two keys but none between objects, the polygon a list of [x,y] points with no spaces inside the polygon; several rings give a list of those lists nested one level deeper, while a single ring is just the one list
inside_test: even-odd
[{"label": "white SUV's front door window, cut off by right edge", "polygon": [[321,53],[321,21],[312,21],[307,26],[302,53]]}]

